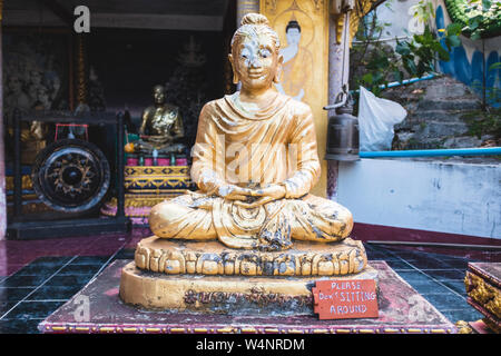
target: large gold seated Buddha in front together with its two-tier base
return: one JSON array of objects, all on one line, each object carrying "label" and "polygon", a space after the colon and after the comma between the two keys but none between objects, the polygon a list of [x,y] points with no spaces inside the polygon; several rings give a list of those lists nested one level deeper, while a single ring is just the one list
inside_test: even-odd
[{"label": "large gold seated Buddha in front together with its two-tier base", "polygon": [[120,298],[147,309],[312,314],[315,280],[377,273],[348,237],[352,214],[310,194],[321,170],[313,115],[273,86],[283,58],[266,17],[243,18],[228,58],[242,89],[202,109],[198,190],[151,209],[155,236],[122,268]]}]

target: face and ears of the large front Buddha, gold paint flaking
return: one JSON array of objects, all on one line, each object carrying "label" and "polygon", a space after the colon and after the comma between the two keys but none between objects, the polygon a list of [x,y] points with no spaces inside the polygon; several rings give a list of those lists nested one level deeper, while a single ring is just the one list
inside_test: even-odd
[{"label": "face and ears of the large front Buddha, gold paint flaking", "polygon": [[229,55],[233,70],[244,89],[266,89],[273,83],[282,62],[273,38],[264,32],[246,36]]}]

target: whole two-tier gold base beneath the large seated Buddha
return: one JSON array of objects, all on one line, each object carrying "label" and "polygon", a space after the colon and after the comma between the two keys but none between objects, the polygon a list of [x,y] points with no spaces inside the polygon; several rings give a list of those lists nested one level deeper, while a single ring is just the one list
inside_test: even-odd
[{"label": "whole two-tier gold base beneath the large seated Buddha", "polygon": [[218,241],[139,241],[124,267],[120,298],[154,310],[313,315],[312,287],[322,279],[374,279],[361,241],[312,244],[255,251]]}]

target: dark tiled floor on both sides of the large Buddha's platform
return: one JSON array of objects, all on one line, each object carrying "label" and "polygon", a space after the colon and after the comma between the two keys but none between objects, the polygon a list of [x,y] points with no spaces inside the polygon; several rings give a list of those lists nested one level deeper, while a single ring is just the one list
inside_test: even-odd
[{"label": "dark tiled floor on both sides of the large Buddha's platform", "polygon": [[[132,259],[148,229],[121,236],[0,241],[0,333],[38,333],[37,326],[115,259]],[[501,251],[448,250],[365,244],[370,260],[385,260],[446,318],[478,320],[466,303],[469,261],[501,261]],[[443,251],[442,251],[443,253]],[[461,255],[459,255],[461,254]]]}]

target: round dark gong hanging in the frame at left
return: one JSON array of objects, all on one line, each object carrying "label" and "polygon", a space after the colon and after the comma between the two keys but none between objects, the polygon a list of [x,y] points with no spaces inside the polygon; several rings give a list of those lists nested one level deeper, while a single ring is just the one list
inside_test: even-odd
[{"label": "round dark gong hanging in the frame at left", "polygon": [[37,155],[31,180],[38,198],[52,209],[85,212],[97,207],[108,191],[110,169],[96,145],[65,139]]}]

